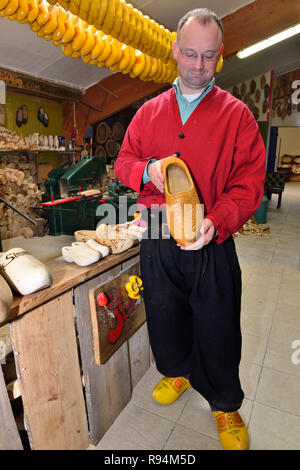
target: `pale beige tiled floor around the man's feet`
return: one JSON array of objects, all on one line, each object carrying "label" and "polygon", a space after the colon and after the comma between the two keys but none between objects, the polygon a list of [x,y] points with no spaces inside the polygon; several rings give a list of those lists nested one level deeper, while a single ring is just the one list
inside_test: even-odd
[{"label": "pale beige tiled floor around the man's feet", "polygon": [[[273,196],[268,237],[236,238],[243,275],[241,415],[250,449],[299,450],[300,183],[288,183],[280,209],[276,203]],[[170,406],[154,402],[151,391],[160,378],[152,366],[97,449],[221,449],[209,406],[196,391]]]}]

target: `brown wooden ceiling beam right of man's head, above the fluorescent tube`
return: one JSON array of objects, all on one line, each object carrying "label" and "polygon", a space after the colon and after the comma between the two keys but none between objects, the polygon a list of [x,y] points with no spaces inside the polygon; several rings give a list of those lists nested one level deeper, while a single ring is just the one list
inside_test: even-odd
[{"label": "brown wooden ceiling beam right of man's head, above the fluorescent tube", "polygon": [[224,57],[299,22],[299,0],[256,0],[222,18]]}]

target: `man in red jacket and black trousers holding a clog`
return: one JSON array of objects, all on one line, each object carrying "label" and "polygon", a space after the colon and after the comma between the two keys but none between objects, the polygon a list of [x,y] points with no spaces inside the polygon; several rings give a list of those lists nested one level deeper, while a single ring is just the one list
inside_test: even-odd
[{"label": "man in red jacket and black trousers holding a clog", "polygon": [[152,395],[171,404],[193,387],[209,402],[224,449],[247,449],[237,411],[244,397],[241,273],[231,235],[260,204],[265,149],[248,108],[214,85],[222,38],[221,21],[210,10],[193,10],[180,20],[173,45],[179,78],[138,110],[115,172],[140,192],[148,213],[165,203],[166,158],[179,155],[193,176],[204,204],[204,235],[178,246],[172,237],[153,237],[150,227],[141,244],[150,343],[166,376]]}]

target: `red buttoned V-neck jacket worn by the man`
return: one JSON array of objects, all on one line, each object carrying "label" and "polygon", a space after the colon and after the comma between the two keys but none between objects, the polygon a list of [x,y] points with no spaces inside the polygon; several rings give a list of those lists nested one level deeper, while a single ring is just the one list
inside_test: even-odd
[{"label": "red buttoned V-neck jacket worn by the man", "polygon": [[116,176],[140,192],[144,206],[163,204],[164,194],[151,182],[143,185],[143,172],[150,158],[174,152],[188,165],[222,243],[253,215],[264,192],[265,148],[252,113],[214,86],[182,125],[171,88],[135,114],[114,166]]}]

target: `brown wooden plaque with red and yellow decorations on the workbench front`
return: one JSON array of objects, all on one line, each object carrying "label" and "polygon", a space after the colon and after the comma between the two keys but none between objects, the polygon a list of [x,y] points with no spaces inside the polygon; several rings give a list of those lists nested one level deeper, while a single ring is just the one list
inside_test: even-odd
[{"label": "brown wooden plaque with red and yellow decorations on the workbench front", "polygon": [[104,364],[146,321],[140,266],[89,291],[96,364]]}]

